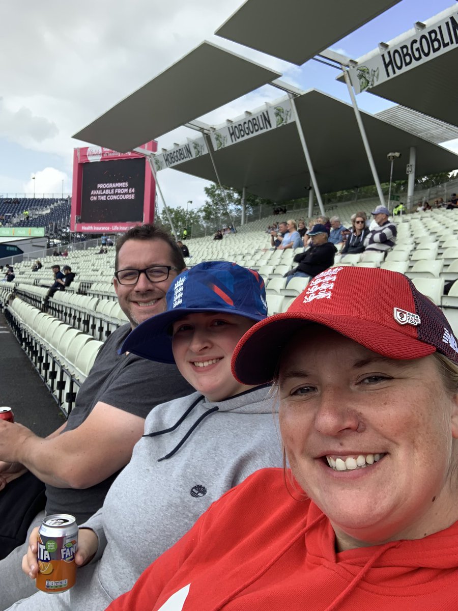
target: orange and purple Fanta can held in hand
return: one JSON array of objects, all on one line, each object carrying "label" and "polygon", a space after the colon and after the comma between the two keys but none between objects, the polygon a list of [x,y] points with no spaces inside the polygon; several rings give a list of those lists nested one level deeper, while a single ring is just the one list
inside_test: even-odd
[{"label": "orange and purple Fanta can held in hand", "polygon": [[37,588],[56,593],[75,585],[78,525],[75,518],[56,513],[43,518],[38,530]]}]

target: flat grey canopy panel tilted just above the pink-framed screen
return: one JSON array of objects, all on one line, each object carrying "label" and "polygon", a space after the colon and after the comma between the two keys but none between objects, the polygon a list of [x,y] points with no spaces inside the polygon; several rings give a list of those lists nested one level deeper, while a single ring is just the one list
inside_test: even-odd
[{"label": "flat grey canopy panel tilted just above the pink-framed screen", "polygon": [[203,42],[73,137],[125,153],[279,76]]}]

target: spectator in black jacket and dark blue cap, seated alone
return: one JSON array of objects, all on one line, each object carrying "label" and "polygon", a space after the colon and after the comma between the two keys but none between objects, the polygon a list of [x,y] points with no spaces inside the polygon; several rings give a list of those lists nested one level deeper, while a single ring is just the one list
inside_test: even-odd
[{"label": "spectator in black jacket and dark blue cap, seated alone", "polygon": [[334,244],[327,241],[329,233],[324,225],[317,223],[307,232],[312,238],[312,245],[308,251],[300,252],[294,257],[294,262],[299,263],[296,268],[288,272],[288,284],[291,278],[313,278],[334,263],[337,252]]}]

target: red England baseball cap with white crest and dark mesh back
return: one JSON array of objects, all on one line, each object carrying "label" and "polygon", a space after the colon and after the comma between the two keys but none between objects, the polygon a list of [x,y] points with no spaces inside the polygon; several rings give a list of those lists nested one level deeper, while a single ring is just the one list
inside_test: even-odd
[{"label": "red England baseball cap with white crest and dark mesh back", "polygon": [[311,323],[390,359],[418,359],[437,350],[458,364],[458,344],[448,320],[407,276],[337,266],[312,278],[286,312],[245,333],[232,357],[234,377],[250,386],[271,381],[283,348]]}]

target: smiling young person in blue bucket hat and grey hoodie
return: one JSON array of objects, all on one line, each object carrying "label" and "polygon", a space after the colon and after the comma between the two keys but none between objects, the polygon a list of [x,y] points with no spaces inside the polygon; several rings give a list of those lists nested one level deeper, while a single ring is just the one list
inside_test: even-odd
[{"label": "smiling young person in blue bucket hat and grey hoodie", "polygon": [[[266,315],[264,281],[252,269],[206,262],[173,280],[166,311],[139,324],[122,352],[176,363],[196,392],[148,415],[103,508],[80,525],[76,563],[87,566],[76,585],[10,609],[102,611],[224,492],[256,469],[282,464],[270,385],[241,384],[231,373],[239,339]],[[36,550],[37,529],[23,559],[32,578]]]}]

